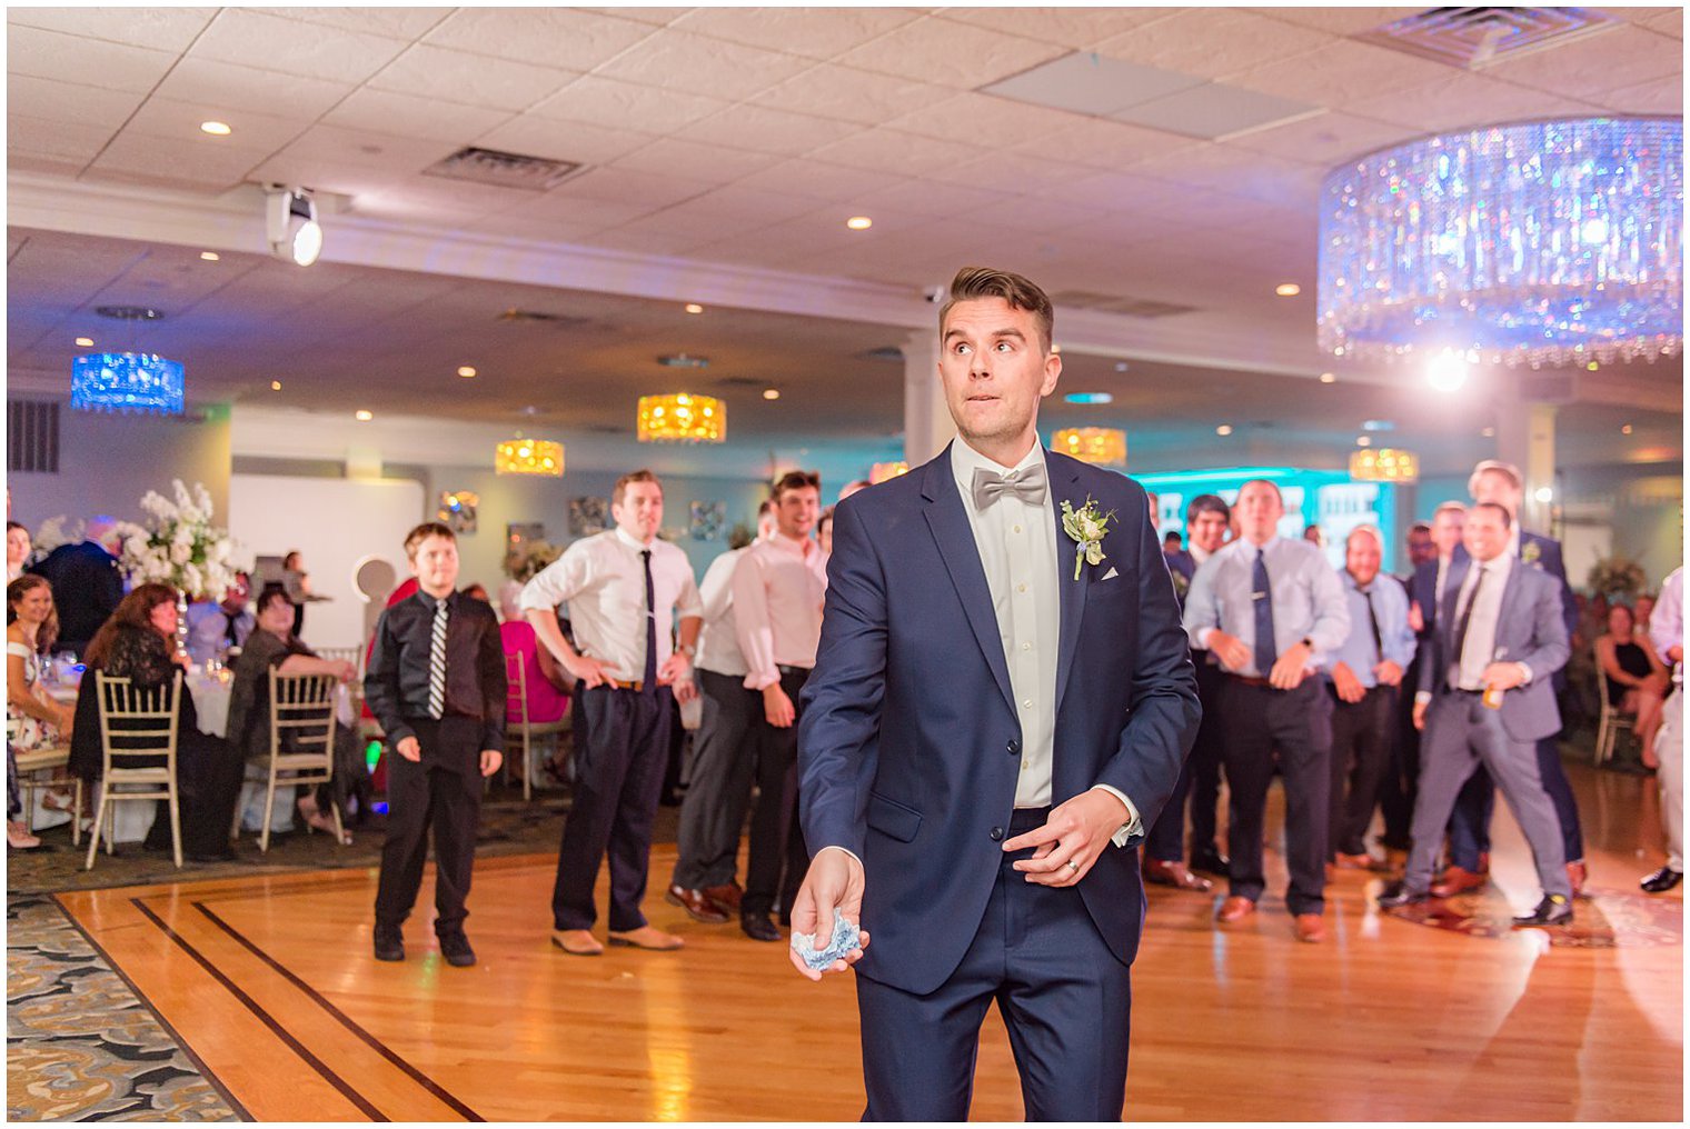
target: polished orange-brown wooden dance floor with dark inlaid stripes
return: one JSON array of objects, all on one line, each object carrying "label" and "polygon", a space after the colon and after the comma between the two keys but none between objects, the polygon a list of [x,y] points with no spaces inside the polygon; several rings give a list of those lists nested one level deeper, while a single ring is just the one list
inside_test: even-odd
[{"label": "polished orange-brown wooden dance floor with dark inlaid stripes", "polygon": [[[1127,1119],[1676,1121],[1683,903],[1636,887],[1658,865],[1651,788],[1580,776],[1589,830],[1614,832],[1592,850],[1577,928],[1555,936],[1496,928],[1535,892],[1501,806],[1494,886],[1436,919],[1379,914],[1366,901],[1379,879],[1345,872],[1328,891],[1330,940],[1301,945],[1278,854],[1244,928],[1217,930],[1215,899],[1154,889]],[[673,859],[654,854],[652,891]],[[656,896],[652,921],[684,952],[568,957],[549,943],[551,881],[551,857],[477,864],[480,963],[466,970],[439,960],[429,913],[407,923],[404,963],[372,960],[372,870],[59,901],[255,1119],[860,1115],[848,977],[813,985],[781,946]],[[1021,1117],[995,1012],[973,1117]]]}]

